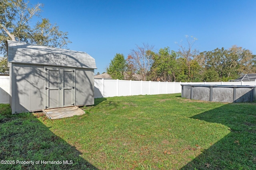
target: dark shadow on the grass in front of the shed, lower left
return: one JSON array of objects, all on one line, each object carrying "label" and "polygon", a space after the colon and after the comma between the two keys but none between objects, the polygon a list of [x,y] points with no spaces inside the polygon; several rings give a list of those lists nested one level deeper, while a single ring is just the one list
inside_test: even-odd
[{"label": "dark shadow on the grass in front of the shed, lower left", "polygon": [[0,160],[6,160],[6,164],[1,162],[1,170],[97,170],[80,156],[81,152],[52,133],[38,117],[44,118],[44,115],[12,115],[10,105],[0,104]]}]

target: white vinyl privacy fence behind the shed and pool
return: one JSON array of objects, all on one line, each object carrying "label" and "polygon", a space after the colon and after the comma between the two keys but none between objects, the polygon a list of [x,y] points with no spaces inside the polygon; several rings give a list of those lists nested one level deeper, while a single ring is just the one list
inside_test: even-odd
[{"label": "white vinyl privacy fence behind the shed and pool", "polygon": [[[94,98],[181,93],[180,84],[249,85],[256,82],[152,82],[94,79]],[[10,102],[10,78],[0,76],[0,103]]]}]

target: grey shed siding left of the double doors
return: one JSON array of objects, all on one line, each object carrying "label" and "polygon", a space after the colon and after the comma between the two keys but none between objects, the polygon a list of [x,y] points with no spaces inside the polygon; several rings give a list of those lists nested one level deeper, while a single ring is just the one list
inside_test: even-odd
[{"label": "grey shed siding left of the double doors", "polygon": [[36,111],[44,107],[44,66],[12,63],[13,112]]}]

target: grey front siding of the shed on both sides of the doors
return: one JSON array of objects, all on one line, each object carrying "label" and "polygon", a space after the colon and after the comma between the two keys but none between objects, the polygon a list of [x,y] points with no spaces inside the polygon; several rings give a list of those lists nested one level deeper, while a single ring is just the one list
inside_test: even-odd
[{"label": "grey front siding of the shed on both sides of the doors", "polygon": [[[45,108],[46,71],[44,65],[11,63],[14,96],[12,113],[38,111]],[[64,68],[64,67],[56,67]],[[94,104],[94,69],[76,68],[75,105]],[[10,103],[11,103],[10,102]]]}]

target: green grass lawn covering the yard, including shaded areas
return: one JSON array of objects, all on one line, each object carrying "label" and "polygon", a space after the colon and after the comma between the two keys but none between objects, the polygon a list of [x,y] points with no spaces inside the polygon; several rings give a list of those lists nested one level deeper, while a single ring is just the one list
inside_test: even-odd
[{"label": "green grass lawn covering the yard, including shaded areas", "polygon": [[256,169],[256,103],[162,94],[99,98],[82,109],[50,120],[0,104],[0,159],[15,161],[0,169]]}]

